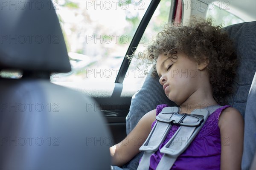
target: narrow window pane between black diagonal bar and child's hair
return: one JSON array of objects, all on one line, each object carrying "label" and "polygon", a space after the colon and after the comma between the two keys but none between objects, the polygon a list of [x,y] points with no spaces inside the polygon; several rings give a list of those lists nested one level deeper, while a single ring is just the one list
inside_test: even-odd
[{"label": "narrow window pane between black diagonal bar and child's hair", "polygon": [[155,10],[147,28],[143,34],[142,39],[137,48],[134,48],[134,57],[130,62],[127,74],[123,83],[143,83],[146,75],[145,71],[149,71],[149,68],[145,68],[145,65],[139,65],[138,55],[143,52],[150,44],[152,39],[157,35],[158,32],[163,30],[165,24],[168,23],[169,13],[171,8],[171,0],[161,0],[157,9]]}]

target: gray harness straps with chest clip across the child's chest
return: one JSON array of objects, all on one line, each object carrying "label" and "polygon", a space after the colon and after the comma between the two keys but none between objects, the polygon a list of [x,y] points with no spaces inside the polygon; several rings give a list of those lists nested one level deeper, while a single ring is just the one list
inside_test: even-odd
[{"label": "gray harness straps with chest clip across the child's chest", "polygon": [[200,129],[203,127],[208,116],[215,112],[219,105],[209,106],[203,109],[195,109],[190,114],[179,114],[179,108],[166,107],[156,117],[157,122],[148,135],[140,151],[144,151],[138,170],[148,169],[150,156],[159,149],[172,125],[180,125],[172,138],[161,148],[163,157],[160,160],[157,170],[169,170],[177,157],[189,146]]}]

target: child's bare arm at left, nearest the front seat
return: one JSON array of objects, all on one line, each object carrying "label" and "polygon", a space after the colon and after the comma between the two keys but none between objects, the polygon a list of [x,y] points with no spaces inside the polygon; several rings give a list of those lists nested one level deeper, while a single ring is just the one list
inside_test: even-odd
[{"label": "child's bare arm at left, nearest the front seat", "polygon": [[155,118],[156,110],[146,113],[122,142],[110,147],[113,165],[120,167],[140,152],[139,148],[147,139]]}]

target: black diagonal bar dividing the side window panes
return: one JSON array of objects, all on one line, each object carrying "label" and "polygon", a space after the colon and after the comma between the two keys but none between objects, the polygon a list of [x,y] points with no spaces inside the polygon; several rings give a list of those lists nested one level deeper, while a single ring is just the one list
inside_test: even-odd
[{"label": "black diagonal bar dividing the side window panes", "polygon": [[144,31],[146,29],[146,27],[148,26],[149,21],[151,20],[151,17],[154,14],[154,11],[156,10],[158,4],[160,3],[160,0],[152,0],[151,3],[148,6],[147,11],[145,12],[135,34],[133,39],[131,40],[131,44],[129,45],[129,48],[125,54],[124,60],[122,62],[122,65],[119,69],[119,72],[116,76],[116,81],[115,83],[122,83],[125,79],[125,74],[128,71],[129,68],[129,59],[126,56],[129,57],[133,57],[133,49],[136,48],[139,43],[140,43],[140,39],[144,34]]}]

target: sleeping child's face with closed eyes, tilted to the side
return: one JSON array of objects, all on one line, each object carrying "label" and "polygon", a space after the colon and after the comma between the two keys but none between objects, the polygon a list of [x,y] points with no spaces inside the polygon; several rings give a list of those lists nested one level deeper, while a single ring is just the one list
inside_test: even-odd
[{"label": "sleeping child's face with closed eyes, tilted to the side", "polygon": [[160,54],[157,58],[157,74],[166,96],[181,105],[202,86],[198,63],[189,59],[182,51],[175,51],[174,57]]}]

